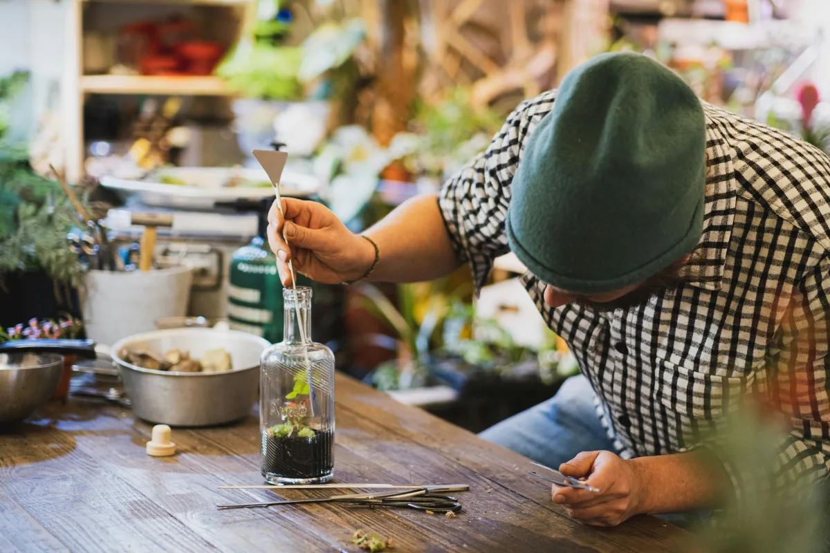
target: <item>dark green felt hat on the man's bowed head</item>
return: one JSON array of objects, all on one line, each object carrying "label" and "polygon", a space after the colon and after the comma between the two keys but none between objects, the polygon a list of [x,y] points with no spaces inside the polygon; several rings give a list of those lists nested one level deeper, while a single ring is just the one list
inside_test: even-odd
[{"label": "dark green felt hat on the man's bowed head", "polygon": [[558,289],[623,289],[695,247],[705,187],[706,119],[691,88],[646,56],[596,56],[565,76],[528,140],[510,249]]}]

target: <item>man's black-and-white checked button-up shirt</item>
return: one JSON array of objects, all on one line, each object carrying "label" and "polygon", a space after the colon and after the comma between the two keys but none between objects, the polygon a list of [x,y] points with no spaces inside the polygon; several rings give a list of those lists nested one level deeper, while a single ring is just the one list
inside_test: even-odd
[{"label": "man's black-and-white checked button-up shirt", "polygon": [[[509,251],[510,182],[555,91],[515,109],[485,153],[439,194],[457,255],[476,286]],[[830,159],[787,133],[704,104],[704,231],[691,279],[637,308],[549,308],[545,284],[522,278],[598,395],[623,458],[684,452],[750,390],[791,424],[772,468],[777,486],[830,471]],[[758,478],[726,466],[738,497]]]}]

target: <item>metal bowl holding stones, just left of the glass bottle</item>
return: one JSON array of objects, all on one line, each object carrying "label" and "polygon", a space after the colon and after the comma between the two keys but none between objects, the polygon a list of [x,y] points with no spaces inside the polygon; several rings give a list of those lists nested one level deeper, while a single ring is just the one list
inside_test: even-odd
[{"label": "metal bowl holding stones, just left of the glass bottle", "polygon": [[[110,355],[120,367],[125,391],[140,419],[171,426],[212,426],[251,413],[259,390],[260,355],[269,345],[264,338],[245,332],[173,328],[126,337],[113,344]],[[158,354],[178,349],[199,359],[220,347],[231,354],[232,371],[153,371],[120,357],[125,348]]]}]

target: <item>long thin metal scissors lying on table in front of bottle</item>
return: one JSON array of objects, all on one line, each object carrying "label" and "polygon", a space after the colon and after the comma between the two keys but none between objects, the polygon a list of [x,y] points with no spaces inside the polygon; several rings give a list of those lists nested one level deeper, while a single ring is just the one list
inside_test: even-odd
[{"label": "long thin metal scissors lying on table in front of bottle", "polygon": [[281,501],[247,503],[242,505],[217,505],[219,509],[240,507],[271,507],[274,505],[295,505],[297,503],[343,502],[350,507],[407,507],[416,511],[459,512],[461,503],[455,497],[440,495],[455,488],[415,488],[390,493],[349,493],[329,497],[305,497]]}]

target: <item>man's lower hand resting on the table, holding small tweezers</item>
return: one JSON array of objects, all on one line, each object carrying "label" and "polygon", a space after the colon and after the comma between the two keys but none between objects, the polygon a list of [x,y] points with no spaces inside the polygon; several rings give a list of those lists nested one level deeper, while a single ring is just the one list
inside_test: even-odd
[{"label": "man's lower hand resting on the table, holding small tweezers", "polygon": [[570,517],[592,526],[617,526],[645,512],[642,468],[610,451],[583,452],[559,466],[559,472],[584,478],[599,492],[553,485],[554,503],[564,505]]}]

